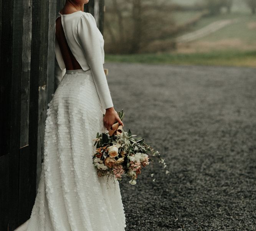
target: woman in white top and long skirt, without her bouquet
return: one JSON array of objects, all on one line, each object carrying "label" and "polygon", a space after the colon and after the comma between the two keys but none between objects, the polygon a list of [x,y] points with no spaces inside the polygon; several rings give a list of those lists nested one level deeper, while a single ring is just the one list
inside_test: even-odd
[{"label": "woman in white top and long skirt, without her bouquet", "polygon": [[66,0],[56,18],[57,89],[46,113],[40,182],[30,219],[15,231],[126,227],[119,182],[107,185],[92,163],[96,133],[107,132],[115,120],[124,124],[104,73],[103,36],[94,17],[83,11],[88,1]]}]

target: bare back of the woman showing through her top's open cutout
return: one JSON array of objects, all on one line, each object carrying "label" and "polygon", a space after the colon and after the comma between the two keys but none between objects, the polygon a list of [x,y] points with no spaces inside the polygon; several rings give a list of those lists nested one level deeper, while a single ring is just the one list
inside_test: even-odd
[{"label": "bare back of the woman showing through her top's open cutout", "polygon": [[61,50],[63,61],[66,66],[66,70],[82,69],[78,61],[75,59],[71,50],[69,49],[68,42],[66,40],[64,30],[61,24],[61,17],[56,19],[56,39]]}]

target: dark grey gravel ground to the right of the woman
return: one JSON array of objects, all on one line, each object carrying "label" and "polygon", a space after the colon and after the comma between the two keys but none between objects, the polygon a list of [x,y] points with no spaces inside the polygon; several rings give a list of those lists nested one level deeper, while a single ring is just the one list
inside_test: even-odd
[{"label": "dark grey gravel ground to the right of the woman", "polygon": [[159,150],[169,171],[154,162],[136,185],[120,182],[126,231],[256,230],[256,69],[104,68],[124,129]]}]

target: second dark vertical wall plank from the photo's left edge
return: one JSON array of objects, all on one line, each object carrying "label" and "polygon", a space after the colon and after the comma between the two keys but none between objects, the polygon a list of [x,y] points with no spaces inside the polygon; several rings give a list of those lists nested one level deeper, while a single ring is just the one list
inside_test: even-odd
[{"label": "second dark vertical wall plank from the photo's left edge", "polygon": [[12,87],[10,91],[9,229],[18,225],[18,173],[20,148],[20,86],[23,33],[23,1],[13,0]]}]

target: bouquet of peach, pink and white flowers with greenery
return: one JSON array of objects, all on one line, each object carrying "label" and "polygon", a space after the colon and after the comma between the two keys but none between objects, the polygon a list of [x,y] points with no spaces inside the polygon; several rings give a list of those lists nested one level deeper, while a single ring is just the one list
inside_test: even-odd
[{"label": "bouquet of peach, pink and white flowers with greenery", "polygon": [[[120,119],[124,118],[124,112],[118,112]],[[122,177],[128,177],[129,183],[136,184],[136,179],[141,174],[141,169],[145,168],[157,158],[158,162],[166,168],[164,159],[159,151],[155,151],[144,142],[144,139],[137,135],[132,135],[130,129],[125,132],[119,122],[115,122],[108,133],[97,133],[94,146],[96,151],[92,157],[93,164],[97,169],[98,176],[112,176],[121,181]],[[168,170],[165,171],[168,174]],[[153,177],[153,173],[150,174]],[[107,178],[108,179],[108,178]],[[153,177],[153,180],[155,178]]]}]

